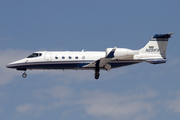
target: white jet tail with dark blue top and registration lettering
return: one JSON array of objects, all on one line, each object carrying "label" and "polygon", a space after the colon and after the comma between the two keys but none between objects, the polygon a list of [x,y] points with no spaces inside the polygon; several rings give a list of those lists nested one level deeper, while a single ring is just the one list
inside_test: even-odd
[{"label": "white jet tail with dark blue top and registration lettering", "polygon": [[173,33],[156,34],[151,40],[138,51],[138,55],[134,59],[144,60],[152,64],[160,64],[166,62],[166,48],[169,38]]}]

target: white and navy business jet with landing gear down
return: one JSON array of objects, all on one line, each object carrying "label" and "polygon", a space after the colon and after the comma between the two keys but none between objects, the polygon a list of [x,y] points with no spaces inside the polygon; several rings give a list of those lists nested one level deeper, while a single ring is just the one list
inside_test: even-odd
[{"label": "white and navy business jet with landing gear down", "polygon": [[106,51],[38,51],[27,58],[9,63],[7,68],[26,70],[61,69],[61,70],[94,70],[95,79],[100,76],[100,70],[110,71],[113,68],[148,62],[151,64],[166,63],[166,48],[168,39],[173,33],[156,34],[139,50],[127,48],[107,48]]}]

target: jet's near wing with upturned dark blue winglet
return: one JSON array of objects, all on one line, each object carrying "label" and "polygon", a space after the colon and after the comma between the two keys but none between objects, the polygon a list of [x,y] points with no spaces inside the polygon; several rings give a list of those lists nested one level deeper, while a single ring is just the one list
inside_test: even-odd
[{"label": "jet's near wing with upturned dark blue winglet", "polygon": [[115,53],[116,47],[114,47],[108,55],[106,55],[103,58],[100,58],[92,63],[89,63],[83,67],[104,67],[106,70],[110,70],[111,69],[111,65],[108,64],[109,61],[111,61],[111,59],[114,57],[114,53]]}]

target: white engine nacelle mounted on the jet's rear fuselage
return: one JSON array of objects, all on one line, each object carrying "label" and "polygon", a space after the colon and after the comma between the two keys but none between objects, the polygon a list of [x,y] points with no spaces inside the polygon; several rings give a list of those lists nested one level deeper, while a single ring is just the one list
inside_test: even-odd
[{"label": "white engine nacelle mounted on the jet's rear fuselage", "polygon": [[[106,55],[108,55],[113,48],[106,49]],[[134,51],[126,48],[116,48],[113,59],[133,59]]]}]

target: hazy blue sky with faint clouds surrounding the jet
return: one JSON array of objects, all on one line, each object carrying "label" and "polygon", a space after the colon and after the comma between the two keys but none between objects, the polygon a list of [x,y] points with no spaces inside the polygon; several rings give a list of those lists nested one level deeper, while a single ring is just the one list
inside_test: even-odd
[{"label": "hazy blue sky with faint clouds surrounding the jet", "polygon": [[[1,0],[1,120],[179,120],[179,0]],[[174,32],[167,63],[101,71],[22,71],[9,62],[39,50],[140,49]]]}]

